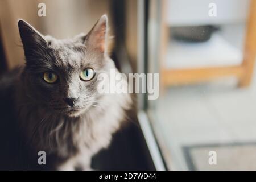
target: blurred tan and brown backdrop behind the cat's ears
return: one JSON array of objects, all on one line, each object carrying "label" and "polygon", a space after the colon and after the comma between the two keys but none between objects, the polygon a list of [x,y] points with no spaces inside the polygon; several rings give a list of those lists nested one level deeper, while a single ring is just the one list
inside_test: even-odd
[{"label": "blurred tan and brown backdrop behind the cat's ears", "polygon": [[[119,44],[126,44],[130,60],[135,60],[137,1],[3,0],[0,3],[1,44],[5,55],[5,61],[1,62],[5,62],[7,69],[24,64],[23,49],[19,47],[22,43],[18,33],[18,19],[26,20],[43,35],[64,39],[88,32],[101,15],[107,14],[110,36],[114,36],[109,45],[111,52]],[[40,3],[46,6],[46,16],[38,15],[42,12]]]}]

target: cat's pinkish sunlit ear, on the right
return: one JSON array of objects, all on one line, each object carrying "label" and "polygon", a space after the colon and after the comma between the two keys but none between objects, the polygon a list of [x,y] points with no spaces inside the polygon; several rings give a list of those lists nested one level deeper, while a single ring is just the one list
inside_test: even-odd
[{"label": "cat's pinkish sunlit ear, on the right", "polygon": [[85,46],[95,51],[106,53],[108,34],[108,16],[103,15],[86,35]]}]

